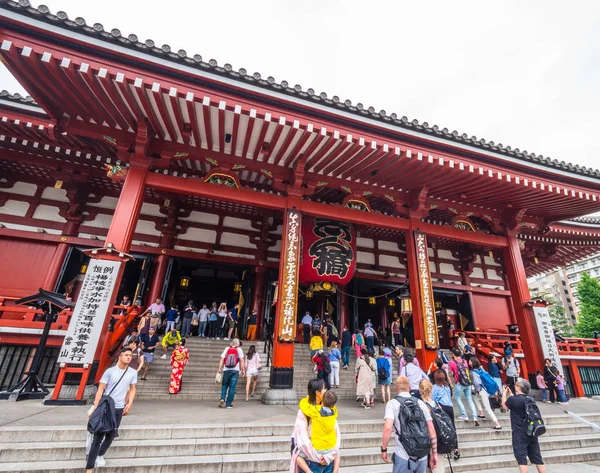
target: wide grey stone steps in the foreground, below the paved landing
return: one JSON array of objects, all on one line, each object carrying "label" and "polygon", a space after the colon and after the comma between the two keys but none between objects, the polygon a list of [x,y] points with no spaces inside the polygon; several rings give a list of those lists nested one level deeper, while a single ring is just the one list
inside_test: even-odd
[{"label": "wide grey stone steps in the foreground, below the paved landing", "polygon": [[[346,408],[346,411],[346,416],[351,415],[350,410]],[[586,418],[598,422],[600,414]],[[600,433],[591,426],[566,414],[548,415],[545,420],[548,431],[540,443],[547,463],[600,460]],[[501,417],[501,422],[502,431],[493,431],[491,421],[483,421],[479,428],[459,422],[462,457],[453,462],[455,472],[516,467],[506,415]],[[340,427],[342,471],[391,471],[391,466],[383,464],[379,454],[381,420],[342,421]],[[114,473],[283,473],[289,469],[291,430],[289,422],[125,425],[106,456],[105,470]],[[85,437],[86,432],[81,427],[0,428],[0,472],[83,471]]]}]

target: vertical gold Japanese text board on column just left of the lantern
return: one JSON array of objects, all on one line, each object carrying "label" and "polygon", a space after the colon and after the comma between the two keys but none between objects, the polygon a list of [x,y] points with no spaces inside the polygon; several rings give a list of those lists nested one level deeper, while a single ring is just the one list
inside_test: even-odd
[{"label": "vertical gold Japanese text board on column just left of the lantern", "polygon": [[296,306],[298,302],[298,269],[300,263],[300,220],[299,212],[288,210],[283,229],[285,249],[281,271],[282,287],[279,301],[279,340],[293,341],[296,338]]}]

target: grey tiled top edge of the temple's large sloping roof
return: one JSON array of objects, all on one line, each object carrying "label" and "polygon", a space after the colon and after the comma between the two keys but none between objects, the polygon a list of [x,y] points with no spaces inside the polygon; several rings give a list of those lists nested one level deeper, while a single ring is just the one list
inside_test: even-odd
[{"label": "grey tiled top edge of the temple's large sloping roof", "polygon": [[164,44],[159,47],[151,39],[140,41],[135,34],[123,36],[120,30],[112,29],[107,31],[100,23],[94,23],[90,26],[87,24],[86,20],[81,17],[71,20],[63,11],[53,14],[45,5],[40,5],[39,7],[35,8],[28,0],[19,0],[18,2],[13,0],[0,0],[0,8],[17,12],[30,18],[35,18],[53,26],[58,25],[67,30],[76,31],[101,41],[113,43],[134,51],[143,52],[158,58],[166,59],[173,63],[184,64],[202,71],[209,71],[216,75],[228,77],[239,82],[252,84],[273,92],[304,99],[315,104],[324,105],[331,109],[343,110],[360,117],[368,117],[382,123],[394,125],[399,129],[412,130],[451,142],[474,146],[483,151],[499,153],[507,157],[517,158],[524,162],[534,163],[547,168],[567,171],[582,176],[600,178],[600,171],[597,169],[579,166],[577,164],[567,163],[565,161],[559,161],[557,159],[545,157],[540,154],[530,153],[526,150],[520,150],[519,148],[512,148],[511,146],[504,146],[501,143],[487,141],[484,138],[477,138],[476,136],[469,136],[466,133],[459,133],[456,130],[451,131],[448,128],[441,128],[437,125],[429,125],[427,122],[409,120],[405,116],[398,117],[396,113],[388,114],[385,110],[376,111],[374,107],[366,107],[362,103],[353,103],[351,100],[342,100],[336,95],[329,97],[325,92],[316,93],[312,88],[305,90],[300,85],[292,86],[288,81],[285,80],[277,82],[275,78],[271,76],[268,76],[265,79],[258,72],[249,74],[244,68],[240,68],[235,71],[233,66],[230,64],[219,66],[215,59],[210,59],[208,62],[206,62],[199,54],[189,56],[187,51],[183,49],[179,49],[177,52],[175,52],[168,44]]}]

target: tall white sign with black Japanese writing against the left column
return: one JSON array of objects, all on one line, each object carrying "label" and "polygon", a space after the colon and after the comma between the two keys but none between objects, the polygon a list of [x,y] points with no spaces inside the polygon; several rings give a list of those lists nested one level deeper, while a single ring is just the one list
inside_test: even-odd
[{"label": "tall white sign with black Japanese writing against the left column", "polygon": [[105,316],[113,305],[120,266],[118,261],[90,260],[60,350],[59,363],[93,363]]}]

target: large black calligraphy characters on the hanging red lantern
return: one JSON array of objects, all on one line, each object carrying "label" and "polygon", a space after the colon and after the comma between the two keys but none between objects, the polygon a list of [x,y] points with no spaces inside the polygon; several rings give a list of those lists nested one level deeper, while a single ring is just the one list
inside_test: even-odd
[{"label": "large black calligraphy characters on the hanging red lantern", "polygon": [[308,255],[319,276],[344,279],[354,261],[352,230],[349,224],[315,218],[313,233],[317,240],[310,245]]}]

